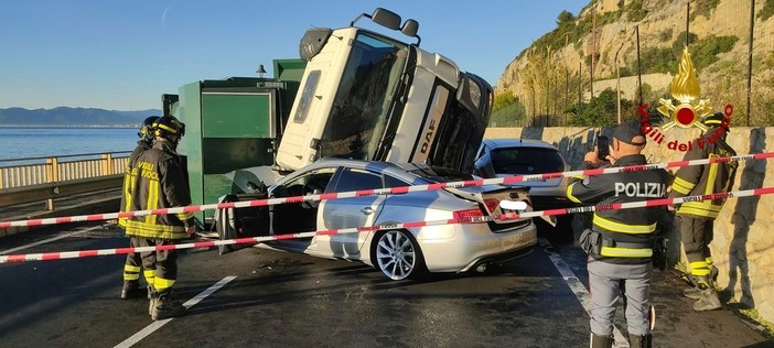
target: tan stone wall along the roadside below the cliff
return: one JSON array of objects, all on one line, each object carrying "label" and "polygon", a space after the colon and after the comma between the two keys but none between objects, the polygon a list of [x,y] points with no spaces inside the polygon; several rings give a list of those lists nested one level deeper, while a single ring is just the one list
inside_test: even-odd
[{"label": "tan stone wall along the roadside below the cliff", "polygon": [[[578,168],[598,134],[610,135],[610,130],[490,128],[484,138],[544,140],[553,143],[570,166]],[[665,140],[660,144],[648,141],[644,154],[651,163],[682,160],[685,152],[669,148],[687,143],[698,134],[698,130],[668,130],[664,132]],[[773,152],[774,128],[733,128],[728,142],[738,154]],[[774,186],[774,164],[768,165],[767,160],[740,163],[733,191],[771,186]],[[774,228],[774,195],[730,198],[716,220],[710,249],[720,269],[719,285],[730,291],[737,301],[756,308],[763,318],[774,322],[774,238],[767,235],[772,232],[770,228]],[[673,226],[668,235],[671,263],[685,264],[679,230]]]}]

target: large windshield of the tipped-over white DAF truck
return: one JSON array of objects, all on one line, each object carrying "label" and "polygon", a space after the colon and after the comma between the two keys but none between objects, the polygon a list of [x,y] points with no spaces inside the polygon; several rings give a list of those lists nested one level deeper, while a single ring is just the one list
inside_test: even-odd
[{"label": "large windshield of the tipped-over white DAF truck", "polygon": [[372,160],[407,56],[406,44],[357,34],[320,141],[320,156]]}]

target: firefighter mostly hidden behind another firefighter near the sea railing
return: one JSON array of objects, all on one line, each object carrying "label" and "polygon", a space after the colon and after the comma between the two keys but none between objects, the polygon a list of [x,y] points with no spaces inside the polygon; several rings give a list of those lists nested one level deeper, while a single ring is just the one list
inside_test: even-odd
[{"label": "firefighter mostly hidden behind another firefighter near the sea railing", "polygon": [[[137,137],[140,140],[137,141],[137,146],[135,151],[129,155],[129,162],[123,174],[123,189],[121,191],[121,205],[120,211],[128,211],[128,205],[131,203],[131,189],[133,184],[133,176],[131,175],[131,166],[137,160],[137,156],[146,150],[153,145],[153,122],[159,119],[158,116],[151,116],[142,121],[140,124],[140,131],[137,132]],[[118,218],[118,225],[126,228],[126,218]],[[130,237],[129,247],[139,247],[139,238]],[[142,258],[139,252],[132,252],[127,254],[127,261],[123,264],[123,287],[121,287],[121,298],[133,298],[142,295],[140,291],[140,271],[144,268],[142,272],[146,282],[148,283],[148,298],[151,296],[150,285],[153,284],[153,275],[155,273],[155,265],[142,264]]]}]

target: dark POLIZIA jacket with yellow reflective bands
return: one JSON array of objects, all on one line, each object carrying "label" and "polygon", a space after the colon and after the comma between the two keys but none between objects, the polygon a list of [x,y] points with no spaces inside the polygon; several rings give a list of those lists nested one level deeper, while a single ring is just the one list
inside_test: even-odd
[{"label": "dark POLIZIA jacket with yellow reflective bands", "polygon": [[[646,164],[642,154],[627,155],[616,166]],[[610,205],[666,196],[667,173],[664,170],[611,173],[573,178],[567,197],[579,204]],[[604,209],[594,211],[592,229],[602,233],[602,248],[595,259],[614,263],[645,263],[653,257],[653,237],[658,215],[665,207]]]}]

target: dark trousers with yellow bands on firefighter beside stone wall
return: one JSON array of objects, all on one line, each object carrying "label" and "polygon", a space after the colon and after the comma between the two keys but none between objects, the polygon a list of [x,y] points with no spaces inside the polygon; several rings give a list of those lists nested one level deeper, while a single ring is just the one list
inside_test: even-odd
[{"label": "dark trousers with yellow bands on firefighter beside stone wall", "polygon": [[712,269],[712,242],[714,220],[701,217],[680,216],[682,248],[690,265],[691,275],[708,275]]}]

